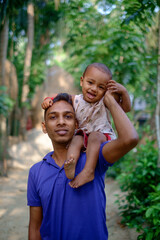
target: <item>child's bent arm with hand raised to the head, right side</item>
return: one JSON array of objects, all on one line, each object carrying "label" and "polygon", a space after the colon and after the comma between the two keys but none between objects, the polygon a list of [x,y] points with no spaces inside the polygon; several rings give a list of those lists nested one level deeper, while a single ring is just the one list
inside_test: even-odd
[{"label": "child's bent arm with hand raised to the head, right side", "polygon": [[129,112],[131,110],[131,100],[127,89],[123,85],[115,82],[114,80],[110,80],[107,83],[107,90],[110,90],[110,92],[115,93],[115,95],[118,94],[120,96],[118,103],[124,112]]}]

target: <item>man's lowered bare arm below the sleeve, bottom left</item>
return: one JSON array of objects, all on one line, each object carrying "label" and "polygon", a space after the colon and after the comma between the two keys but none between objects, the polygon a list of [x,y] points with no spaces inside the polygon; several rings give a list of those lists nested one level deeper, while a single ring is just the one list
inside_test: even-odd
[{"label": "man's lowered bare arm below the sleeve, bottom left", "polygon": [[30,207],[28,240],[41,240],[42,207]]}]

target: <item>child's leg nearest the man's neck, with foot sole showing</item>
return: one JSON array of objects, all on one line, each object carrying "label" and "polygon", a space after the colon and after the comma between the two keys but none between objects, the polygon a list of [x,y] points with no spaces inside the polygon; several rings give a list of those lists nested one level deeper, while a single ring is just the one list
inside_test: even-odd
[{"label": "child's leg nearest the man's neck, with foot sole showing", "polygon": [[67,160],[64,163],[64,170],[68,179],[73,179],[75,176],[75,167],[83,146],[83,136],[76,135],[72,138],[67,151]]}]

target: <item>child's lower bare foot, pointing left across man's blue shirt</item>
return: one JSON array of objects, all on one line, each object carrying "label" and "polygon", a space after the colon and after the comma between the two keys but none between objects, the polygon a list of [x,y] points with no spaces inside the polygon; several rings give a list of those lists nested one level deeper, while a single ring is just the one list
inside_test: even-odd
[{"label": "child's lower bare foot, pointing left across man's blue shirt", "polygon": [[71,182],[69,182],[69,185],[72,188],[78,188],[88,182],[91,182],[94,179],[94,172],[89,172],[86,169],[83,169],[82,172],[80,172],[75,179],[73,179]]}]

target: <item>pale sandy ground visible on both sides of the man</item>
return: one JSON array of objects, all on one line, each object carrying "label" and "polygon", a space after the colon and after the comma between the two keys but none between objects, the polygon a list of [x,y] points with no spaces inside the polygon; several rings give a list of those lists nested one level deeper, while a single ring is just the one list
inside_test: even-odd
[{"label": "pale sandy ground visible on both sides of the man", "polygon": [[[51,149],[47,136],[40,130],[28,133],[28,141],[10,148],[8,177],[0,178],[0,239],[27,240],[29,209],[26,201],[29,167]],[[120,194],[118,183],[106,179],[107,226],[109,240],[136,240],[138,234],[120,224],[115,194]]]}]

